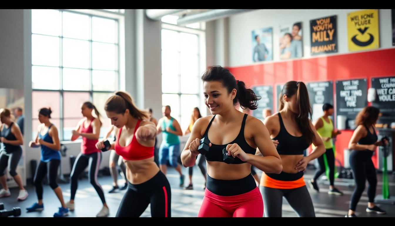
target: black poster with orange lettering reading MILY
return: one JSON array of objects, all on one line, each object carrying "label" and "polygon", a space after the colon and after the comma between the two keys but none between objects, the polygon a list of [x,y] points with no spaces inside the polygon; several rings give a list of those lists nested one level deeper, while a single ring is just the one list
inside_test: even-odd
[{"label": "black poster with orange lettering reading MILY", "polygon": [[311,55],[337,53],[336,16],[310,20]]}]

